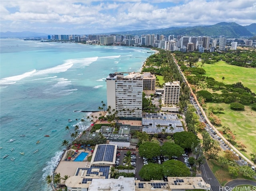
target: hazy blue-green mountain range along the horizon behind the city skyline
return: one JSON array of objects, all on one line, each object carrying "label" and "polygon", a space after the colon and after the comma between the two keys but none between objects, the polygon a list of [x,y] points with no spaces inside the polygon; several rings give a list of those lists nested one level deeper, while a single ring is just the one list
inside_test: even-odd
[{"label": "hazy blue-green mountain range along the horizon behind the city skyline", "polygon": [[[105,33],[113,34],[113,33]],[[221,22],[215,25],[209,26],[194,26],[194,27],[171,27],[165,29],[154,29],[154,30],[136,30],[136,31],[125,31],[117,32],[114,34],[122,35],[146,35],[146,34],[160,34],[160,35],[187,35],[187,36],[211,36],[218,37],[223,35],[225,37],[242,37],[242,36],[253,36],[256,35],[256,23],[248,26],[241,26],[234,22],[227,23]],[[47,37],[49,34],[36,33],[36,32],[0,32],[1,38],[17,38],[17,37]]]}]

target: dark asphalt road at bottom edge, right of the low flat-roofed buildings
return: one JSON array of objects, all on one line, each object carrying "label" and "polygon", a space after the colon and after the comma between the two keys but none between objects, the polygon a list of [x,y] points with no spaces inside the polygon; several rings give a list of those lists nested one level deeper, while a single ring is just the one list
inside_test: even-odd
[{"label": "dark asphalt road at bottom edge, right of the low flat-roofed buildings", "polygon": [[200,166],[202,178],[206,183],[211,185],[212,191],[220,191],[220,183],[212,173],[208,163],[205,161],[203,165]]}]

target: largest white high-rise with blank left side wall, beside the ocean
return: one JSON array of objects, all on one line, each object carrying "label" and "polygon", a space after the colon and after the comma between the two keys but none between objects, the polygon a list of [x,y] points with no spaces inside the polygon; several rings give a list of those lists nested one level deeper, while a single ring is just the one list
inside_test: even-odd
[{"label": "largest white high-rise with blank left side wall, beside the ocean", "polygon": [[142,118],[143,75],[123,73],[108,75],[107,105],[118,112],[120,118]]}]

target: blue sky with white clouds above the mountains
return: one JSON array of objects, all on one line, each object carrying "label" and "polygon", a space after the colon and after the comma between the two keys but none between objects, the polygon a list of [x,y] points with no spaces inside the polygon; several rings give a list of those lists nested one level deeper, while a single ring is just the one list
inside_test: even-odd
[{"label": "blue sky with white clouds above the mountains", "polygon": [[1,0],[1,32],[91,34],[256,23],[255,0]]}]

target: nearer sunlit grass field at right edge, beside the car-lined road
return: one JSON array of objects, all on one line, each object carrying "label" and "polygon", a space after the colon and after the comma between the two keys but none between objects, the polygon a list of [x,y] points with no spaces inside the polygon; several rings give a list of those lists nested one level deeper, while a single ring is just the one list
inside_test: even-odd
[{"label": "nearer sunlit grass field at right edge, beside the car-lined road", "polygon": [[223,126],[229,127],[236,136],[236,141],[240,140],[246,146],[244,148],[246,152],[239,148],[238,150],[250,159],[250,153],[256,153],[256,111],[251,110],[250,106],[245,106],[244,111],[231,110],[230,104],[225,103],[207,103],[207,108],[210,106],[218,106],[224,109],[219,114],[222,126],[216,128],[223,130]]}]

